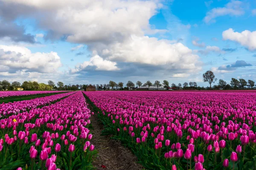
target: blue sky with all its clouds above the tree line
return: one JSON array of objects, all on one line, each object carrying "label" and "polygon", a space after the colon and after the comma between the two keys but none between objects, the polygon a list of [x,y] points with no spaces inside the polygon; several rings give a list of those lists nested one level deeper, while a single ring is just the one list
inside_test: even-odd
[{"label": "blue sky with all its clouds above the tree line", "polygon": [[207,70],[256,81],[256,0],[0,0],[0,81],[206,87]]}]

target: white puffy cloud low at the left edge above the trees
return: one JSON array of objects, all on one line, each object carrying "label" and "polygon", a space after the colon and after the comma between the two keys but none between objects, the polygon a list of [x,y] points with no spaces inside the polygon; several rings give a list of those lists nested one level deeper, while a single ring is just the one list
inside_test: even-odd
[{"label": "white puffy cloud low at the left edge above the trees", "polygon": [[32,53],[28,48],[20,46],[0,45],[1,72],[17,71],[55,73],[61,67],[57,53]]}]

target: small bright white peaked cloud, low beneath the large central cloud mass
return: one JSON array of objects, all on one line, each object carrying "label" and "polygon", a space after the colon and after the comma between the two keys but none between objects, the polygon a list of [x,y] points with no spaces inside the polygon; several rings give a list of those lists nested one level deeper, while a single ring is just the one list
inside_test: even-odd
[{"label": "small bright white peaked cloud, low beneath the large central cloud mass", "polygon": [[116,62],[111,62],[108,60],[99,57],[98,55],[90,58],[90,61],[85,61],[80,65],[77,65],[75,69],[72,69],[72,73],[76,73],[79,71],[87,71],[87,70],[96,70],[96,71],[116,71],[119,70],[116,66]]}]

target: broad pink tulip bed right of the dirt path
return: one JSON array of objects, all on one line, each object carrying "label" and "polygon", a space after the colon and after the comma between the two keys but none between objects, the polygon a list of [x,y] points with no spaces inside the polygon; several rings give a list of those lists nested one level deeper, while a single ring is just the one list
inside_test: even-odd
[{"label": "broad pink tulip bed right of the dirt path", "polygon": [[256,170],[256,93],[84,92],[112,134],[151,170]]}]

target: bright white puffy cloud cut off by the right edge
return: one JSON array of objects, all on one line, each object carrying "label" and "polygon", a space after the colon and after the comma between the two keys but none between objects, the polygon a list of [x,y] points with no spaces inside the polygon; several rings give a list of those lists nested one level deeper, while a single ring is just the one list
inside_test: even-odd
[{"label": "bright white puffy cloud cut off by the right edge", "polygon": [[224,40],[231,40],[238,42],[244,47],[248,48],[250,51],[256,50],[256,31],[242,31],[234,32],[232,28],[222,32],[222,37]]}]

